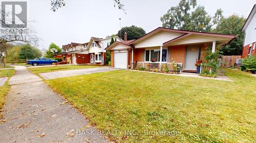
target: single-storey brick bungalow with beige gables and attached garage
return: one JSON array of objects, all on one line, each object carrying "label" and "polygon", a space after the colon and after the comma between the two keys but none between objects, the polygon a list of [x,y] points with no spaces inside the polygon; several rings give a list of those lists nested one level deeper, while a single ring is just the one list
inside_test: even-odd
[{"label": "single-storey brick bungalow with beige gables and attached garage", "polygon": [[173,59],[182,71],[195,72],[195,63],[202,59],[207,45],[215,52],[217,44],[222,48],[234,38],[235,35],[158,27],[137,40],[116,41],[105,49],[111,51],[112,67],[128,69],[136,63],[160,70],[165,64],[170,70]]}]

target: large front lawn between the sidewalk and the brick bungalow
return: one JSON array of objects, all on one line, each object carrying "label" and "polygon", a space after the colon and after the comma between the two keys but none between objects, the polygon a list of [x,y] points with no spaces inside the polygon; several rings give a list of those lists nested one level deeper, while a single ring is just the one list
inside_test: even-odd
[{"label": "large front lawn between the sidewalk and the brick bungalow", "polygon": [[134,71],[46,82],[117,142],[255,142],[255,77],[226,71],[233,82]]}]

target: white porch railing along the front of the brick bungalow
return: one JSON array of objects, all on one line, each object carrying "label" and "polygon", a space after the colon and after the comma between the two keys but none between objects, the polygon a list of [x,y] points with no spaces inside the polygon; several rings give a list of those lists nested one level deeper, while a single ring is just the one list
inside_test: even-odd
[{"label": "white porch railing along the front of the brick bungalow", "polygon": [[[155,62],[131,62],[131,68],[146,68],[147,70],[164,70],[165,67],[168,68],[169,71],[173,71],[172,63],[155,63]],[[182,63],[175,63],[177,65],[177,72],[182,71]],[[136,66],[136,67],[133,67]],[[162,68],[161,68],[162,67]]]}]

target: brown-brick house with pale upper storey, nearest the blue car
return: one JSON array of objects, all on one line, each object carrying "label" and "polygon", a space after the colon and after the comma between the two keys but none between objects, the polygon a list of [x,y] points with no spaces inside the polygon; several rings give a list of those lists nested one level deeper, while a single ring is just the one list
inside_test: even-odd
[{"label": "brown-brick house with pale upper storey, nearest the blue car", "polygon": [[90,64],[90,55],[87,49],[88,43],[71,43],[62,46],[62,61],[67,64],[82,65]]}]

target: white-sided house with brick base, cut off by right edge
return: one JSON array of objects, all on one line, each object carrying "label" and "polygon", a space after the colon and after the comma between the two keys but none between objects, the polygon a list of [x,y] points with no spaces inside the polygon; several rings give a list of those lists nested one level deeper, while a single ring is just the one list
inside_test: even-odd
[{"label": "white-sided house with brick base, cut off by right edge", "polygon": [[256,54],[256,5],[253,6],[242,28],[244,32],[244,44],[242,58]]}]

